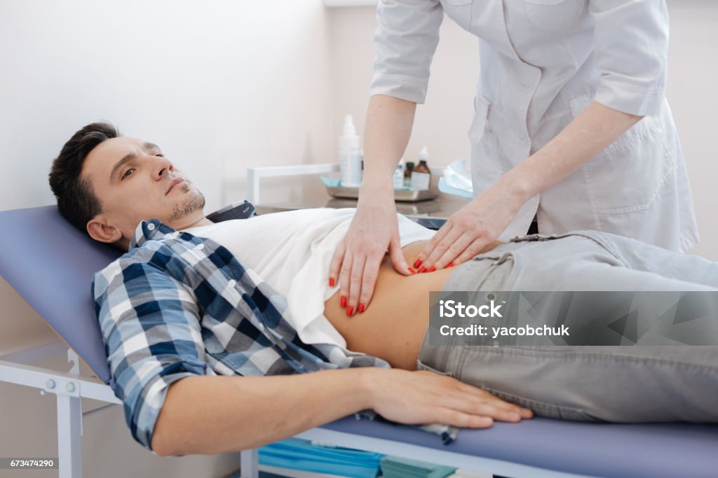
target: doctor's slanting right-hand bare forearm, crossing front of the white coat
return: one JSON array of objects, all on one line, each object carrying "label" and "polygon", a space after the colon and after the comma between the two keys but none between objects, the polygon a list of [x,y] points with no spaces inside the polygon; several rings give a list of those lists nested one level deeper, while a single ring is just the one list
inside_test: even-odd
[{"label": "doctor's slanting right-hand bare forearm, crossing front of the white coat", "polygon": [[641,118],[594,102],[501,181],[528,201],[591,161]]}]

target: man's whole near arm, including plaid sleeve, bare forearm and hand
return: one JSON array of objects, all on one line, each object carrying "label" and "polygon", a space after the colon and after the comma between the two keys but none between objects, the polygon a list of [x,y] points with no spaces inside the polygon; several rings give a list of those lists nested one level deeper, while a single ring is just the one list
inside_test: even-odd
[{"label": "man's whole near arm, including plaid sleeve, bare forearm and hand", "polygon": [[134,439],[157,454],[246,449],[366,408],[406,424],[472,427],[490,426],[486,416],[518,421],[510,411],[521,411],[424,371],[217,376],[205,360],[195,297],[165,272],[114,262],[95,274],[93,295],[113,391]]}]

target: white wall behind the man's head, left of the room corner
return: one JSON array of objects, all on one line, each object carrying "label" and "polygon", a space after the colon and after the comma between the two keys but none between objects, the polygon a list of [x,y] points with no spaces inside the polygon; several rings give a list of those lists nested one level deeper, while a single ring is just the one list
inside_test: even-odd
[{"label": "white wall behind the man's head, left of the room corner", "polygon": [[[52,158],[101,119],[160,145],[208,211],[242,197],[248,166],[327,161],[329,44],[322,0],[0,0],[0,210],[52,204]],[[54,335],[4,280],[0,302],[0,350]],[[0,454],[56,456],[54,417],[53,397],[0,383]],[[121,408],[89,417],[83,441],[85,476],[238,467],[232,455],[157,459]]]}]

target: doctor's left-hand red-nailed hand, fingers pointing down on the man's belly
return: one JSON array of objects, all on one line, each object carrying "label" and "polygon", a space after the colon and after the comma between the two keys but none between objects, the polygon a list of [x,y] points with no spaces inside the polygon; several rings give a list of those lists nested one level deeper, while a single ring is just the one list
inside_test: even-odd
[{"label": "doctor's left-hand red-nailed hand, fingers pointing down on the man's belly", "polygon": [[364,312],[369,306],[387,250],[394,269],[411,274],[401,251],[393,189],[366,192],[360,194],[354,219],[334,253],[329,271],[330,287],[339,280],[340,305],[346,307],[348,316]]}]

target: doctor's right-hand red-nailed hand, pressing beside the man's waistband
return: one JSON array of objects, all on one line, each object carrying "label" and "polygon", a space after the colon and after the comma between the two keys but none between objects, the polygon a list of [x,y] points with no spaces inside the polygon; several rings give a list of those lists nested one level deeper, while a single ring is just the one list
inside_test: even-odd
[{"label": "doctor's right-hand red-nailed hand, pressing beside the man's waistband", "polygon": [[458,265],[493,243],[527,200],[524,193],[508,182],[504,176],[452,214],[421,250],[414,267],[419,267],[419,272],[432,272]]}]

